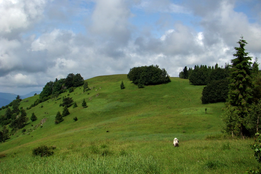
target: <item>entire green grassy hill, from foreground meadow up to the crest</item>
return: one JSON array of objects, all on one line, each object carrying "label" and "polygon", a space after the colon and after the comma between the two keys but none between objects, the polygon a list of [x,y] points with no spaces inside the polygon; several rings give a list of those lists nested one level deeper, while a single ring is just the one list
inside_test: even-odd
[{"label": "entire green grassy hill, from foreground meadow up to the crest", "polygon": [[[87,81],[94,87],[90,91],[79,87],[26,111],[38,119],[0,144],[0,173],[243,173],[258,165],[249,148],[253,139],[222,137],[224,104],[201,104],[203,86],[175,77],[140,89],[127,75]],[[69,107],[71,114],[55,125],[62,97],[68,95],[78,107]],[[23,99],[20,107],[37,97]],[[87,108],[81,106],[83,99]],[[175,137],[178,148],[172,144]],[[33,157],[32,149],[42,144],[56,146],[55,155]]]}]

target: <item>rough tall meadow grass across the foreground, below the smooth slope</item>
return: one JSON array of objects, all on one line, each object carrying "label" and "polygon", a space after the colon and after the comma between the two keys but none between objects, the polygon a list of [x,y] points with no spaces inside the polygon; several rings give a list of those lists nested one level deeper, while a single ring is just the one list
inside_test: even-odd
[{"label": "rough tall meadow grass across the foreground, below the smooth slope", "polygon": [[[6,154],[0,173],[243,173],[257,166],[249,140],[74,142],[50,157]],[[229,145],[229,148],[227,148]]]}]

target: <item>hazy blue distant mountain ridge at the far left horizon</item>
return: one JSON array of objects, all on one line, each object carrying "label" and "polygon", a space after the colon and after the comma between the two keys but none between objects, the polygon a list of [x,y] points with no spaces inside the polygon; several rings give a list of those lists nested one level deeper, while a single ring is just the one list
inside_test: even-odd
[{"label": "hazy blue distant mountain ridge at the far left horizon", "polygon": [[[35,93],[40,94],[41,91],[32,91],[29,94],[26,95],[20,95],[21,99],[25,99],[28,97],[32,97],[35,95]],[[10,102],[12,102],[17,97],[17,94],[12,93],[0,93],[0,107],[8,105]]]}]

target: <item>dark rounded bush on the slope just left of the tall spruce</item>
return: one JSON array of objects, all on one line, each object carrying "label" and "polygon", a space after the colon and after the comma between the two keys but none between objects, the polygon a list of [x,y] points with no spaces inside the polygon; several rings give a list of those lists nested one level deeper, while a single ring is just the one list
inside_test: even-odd
[{"label": "dark rounded bush on the slope just left of the tall spruce", "polygon": [[202,91],[202,104],[225,102],[228,97],[228,80],[215,80],[205,86]]}]

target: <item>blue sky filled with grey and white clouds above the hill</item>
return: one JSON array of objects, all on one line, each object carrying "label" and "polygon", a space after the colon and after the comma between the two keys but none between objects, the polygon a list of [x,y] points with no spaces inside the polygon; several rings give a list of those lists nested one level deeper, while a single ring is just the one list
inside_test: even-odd
[{"label": "blue sky filled with grey and white clouds above the hill", "polygon": [[260,0],[0,0],[0,23],[2,93],[42,90],[69,73],[224,67],[242,36],[253,61],[261,57]]}]

